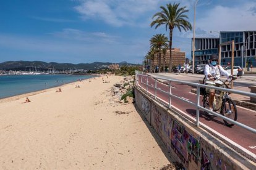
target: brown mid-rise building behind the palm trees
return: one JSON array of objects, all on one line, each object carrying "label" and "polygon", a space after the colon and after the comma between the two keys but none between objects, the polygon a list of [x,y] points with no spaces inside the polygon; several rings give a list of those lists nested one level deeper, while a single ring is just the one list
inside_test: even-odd
[{"label": "brown mid-rise building behind the palm trees", "polygon": [[[173,67],[176,67],[178,66],[179,64],[183,65],[185,63],[185,59],[186,59],[186,52],[184,51],[181,51],[181,49],[177,49],[177,48],[173,48],[171,49],[171,52],[172,52],[172,64],[173,64]],[[158,57],[159,54],[155,54],[154,55],[154,59],[153,59],[153,68],[155,68],[158,63],[159,63],[159,57]],[[165,58],[165,59],[164,59]],[[163,64],[165,62],[165,67],[169,67],[169,60],[170,60],[170,51],[168,50],[166,52],[166,56],[164,57],[163,55],[163,52],[161,52],[161,62],[160,62],[160,65],[161,65],[161,70],[163,70]]]}]

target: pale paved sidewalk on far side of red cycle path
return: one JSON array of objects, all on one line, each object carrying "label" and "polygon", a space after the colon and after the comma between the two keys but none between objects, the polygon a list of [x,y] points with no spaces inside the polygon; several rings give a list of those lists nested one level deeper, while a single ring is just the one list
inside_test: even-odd
[{"label": "pale paved sidewalk on far side of red cycle path", "polygon": [[[156,74],[148,74],[148,75],[161,75],[166,76],[171,79],[177,79],[181,81],[188,81],[192,83],[199,83],[199,80],[203,80],[204,75],[198,75],[198,74],[192,74],[192,73],[156,73]],[[237,91],[244,91],[244,92],[250,92],[249,86],[256,86],[255,81],[251,81],[250,79],[246,78],[247,76],[244,76],[243,79],[236,79],[234,82],[233,89]],[[249,77],[249,76],[248,76]],[[191,92],[196,93],[197,89],[191,89]],[[252,110],[256,110],[256,103],[250,102],[250,97],[239,95],[239,94],[230,94],[230,97],[236,102],[236,105],[239,105],[241,107],[249,108]]]}]

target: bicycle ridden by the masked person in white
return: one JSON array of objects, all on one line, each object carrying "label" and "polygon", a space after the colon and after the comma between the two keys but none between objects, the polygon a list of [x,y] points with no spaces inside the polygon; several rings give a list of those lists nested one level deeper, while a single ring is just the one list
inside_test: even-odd
[{"label": "bicycle ridden by the masked person in white", "polygon": [[[223,85],[222,87],[229,89],[229,85],[231,84],[232,81],[234,81],[236,78],[232,78],[230,81],[225,80],[221,81]],[[215,79],[216,80],[216,79]],[[227,84],[228,83],[228,84]],[[216,93],[219,92],[220,95],[216,99],[216,96],[213,99],[213,111],[220,111],[220,114],[223,116],[226,116],[227,118],[234,119],[234,121],[237,120],[237,108],[236,108],[236,103],[229,97],[229,92],[223,92],[223,91],[216,91]],[[207,92],[204,92],[203,95],[203,107],[209,109],[209,99],[208,99]],[[206,115],[209,115],[207,111],[204,111]],[[226,126],[232,127],[234,126],[233,123],[229,123],[228,121],[224,120],[224,123]]]}]

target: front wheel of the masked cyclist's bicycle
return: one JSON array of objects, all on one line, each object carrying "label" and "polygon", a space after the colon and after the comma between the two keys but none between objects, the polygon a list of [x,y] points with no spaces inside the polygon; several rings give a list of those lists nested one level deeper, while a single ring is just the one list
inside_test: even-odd
[{"label": "front wheel of the masked cyclist's bicycle", "polygon": [[[225,99],[225,100],[226,101],[223,100],[223,103],[221,104],[221,115],[236,121],[237,120],[236,104],[231,99]],[[229,127],[234,126],[234,124],[230,123],[229,121],[226,121],[224,119],[223,121],[226,124],[226,126],[229,126]]]}]

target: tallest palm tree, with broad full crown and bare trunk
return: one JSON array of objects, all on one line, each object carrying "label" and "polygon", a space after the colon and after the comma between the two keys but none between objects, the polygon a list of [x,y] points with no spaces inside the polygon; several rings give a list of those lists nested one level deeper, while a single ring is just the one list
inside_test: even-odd
[{"label": "tallest palm tree, with broad full crown and bare trunk", "polygon": [[[167,8],[166,8],[167,7]],[[171,57],[171,47],[173,45],[173,29],[178,28],[179,31],[182,29],[184,31],[192,30],[191,23],[186,20],[189,17],[187,17],[186,13],[189,12],[187,7],[181,7],[179,8],[179,3],[176,4],[166,4],[166,7],[161,6],[162,9],[161,12],[157,12],[155,15],[153,15],[153,18],[156,18],[153,22],[150,23],[150,26],[155,26],[155,28],[158,28],[160,25],[166,25],[166,31],[167,28],[169,28],[169,50],[170,50],[170,60],[169,60],[169,72],[171,72],[172,68],[172,57]]]}]

